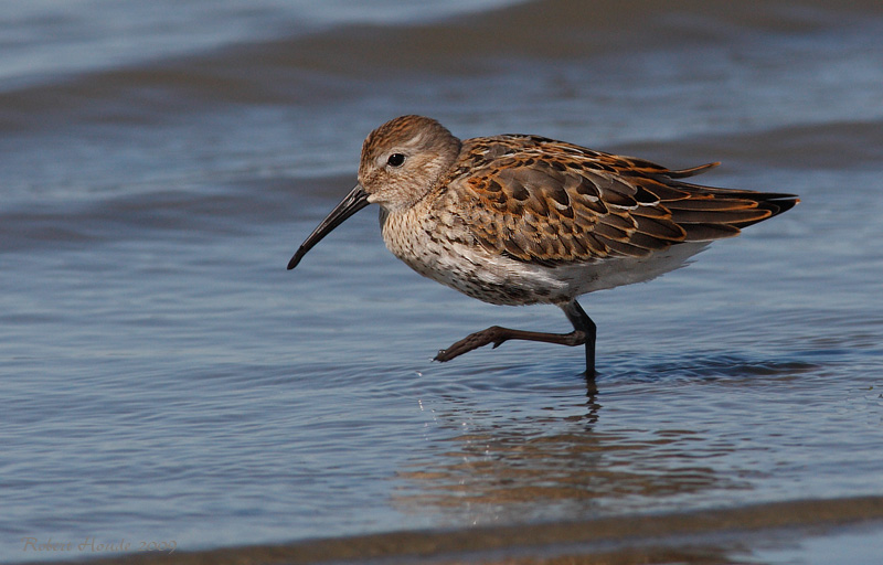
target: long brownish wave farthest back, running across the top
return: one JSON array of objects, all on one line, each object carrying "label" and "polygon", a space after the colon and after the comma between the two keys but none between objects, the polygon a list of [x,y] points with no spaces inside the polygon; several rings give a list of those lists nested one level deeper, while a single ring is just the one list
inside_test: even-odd
[{"label": "long brownish wave farthest back, running across the top", "polygon": [[470,77],[526,61],[555,65],[616,53],[688,50],[746,34],[849,25],[883,4],[854,0],[581,2],[542,0],[429,23],[347,24],[287,39],[121,68],[61,75],[0,93],[0,131],[150,119],[226,104],[319,105],[364,96],[366,85]]}]

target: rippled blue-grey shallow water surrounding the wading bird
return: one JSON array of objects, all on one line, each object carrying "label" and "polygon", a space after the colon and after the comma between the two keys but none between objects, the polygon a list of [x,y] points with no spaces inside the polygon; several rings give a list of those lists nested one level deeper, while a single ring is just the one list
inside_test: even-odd
[{"label": "rippled blue-grey shallow water surrounding the wading bird", "polygon": [[[0,26],[0,561],[883,494],[877,2],[110,4]],[[405,113],[802,202],[584,297],[595,385],[433,363],[567,322],[421,278],[373,209],[285,270]]]}]

